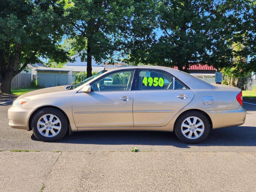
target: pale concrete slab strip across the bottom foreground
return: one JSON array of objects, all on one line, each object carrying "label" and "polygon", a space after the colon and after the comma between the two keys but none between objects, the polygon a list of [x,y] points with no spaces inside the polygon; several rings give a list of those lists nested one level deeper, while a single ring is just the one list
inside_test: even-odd
[{"label": "pale concrete slab strip across the bottom foreground", "polygon": [[0,152],[0,191],[256,191],[256,153]]}]

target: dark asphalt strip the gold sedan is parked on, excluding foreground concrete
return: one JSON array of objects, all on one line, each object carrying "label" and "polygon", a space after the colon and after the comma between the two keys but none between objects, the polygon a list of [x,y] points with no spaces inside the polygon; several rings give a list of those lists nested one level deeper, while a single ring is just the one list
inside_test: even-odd
[{"label": "dark asphalt strip the gold sedan is parked on, excluding foreground concrete", "polygon": [[[2,95],[0,96],[2,98]],[[2,100],[8,101],[11,98]],[[2,102],[0,100],[0,103]],[[256,103],[256,99],[244,99]],[[0,104],[0,149],[39,151],[201,151],[201,152],[256,152],[256,105],[243,103],[247,110],[246,122],[237,127],[211,130],[204,142],[196,145],[182,143],[171,132],[157,131],[88,131],[73,132],[52,143],[39,141],[32,131],[12,129],[8,125],[7,110],[12,102]]]}]

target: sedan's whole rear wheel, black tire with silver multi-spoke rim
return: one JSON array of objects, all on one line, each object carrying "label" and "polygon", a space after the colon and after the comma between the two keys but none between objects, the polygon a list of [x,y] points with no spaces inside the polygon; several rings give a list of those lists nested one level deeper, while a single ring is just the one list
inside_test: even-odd
[{"label": "sedan's whole rear wheel, black tire with silver multi-spoke rim", "polygon": [[206,116],[198,111],[188,111],[182,114],[175,123],[174,132],[177,137],[188,144],[204,141],[210,131]]}]

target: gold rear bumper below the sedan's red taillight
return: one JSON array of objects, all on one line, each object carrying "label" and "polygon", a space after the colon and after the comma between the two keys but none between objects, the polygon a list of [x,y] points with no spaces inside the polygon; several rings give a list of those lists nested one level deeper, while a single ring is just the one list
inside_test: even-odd
[{"label": "gold rear bumper below the sedan's red taillight", "polygon": [[205,111],[211,118],[212,129],[242,125],[245,122],[246,110],[238,109]]}]

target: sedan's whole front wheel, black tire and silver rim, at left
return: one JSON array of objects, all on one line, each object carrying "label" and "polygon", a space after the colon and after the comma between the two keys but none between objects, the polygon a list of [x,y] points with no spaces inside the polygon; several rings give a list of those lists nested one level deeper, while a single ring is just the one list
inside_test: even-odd
[{"label": "sedan's whole front wheel, black tire and silver rim, at left", "polygon": [[58,141],[68,130],[68,121],[62,111],[47,108],[38,111],[32,119],[34,135],[41,141]]}]

